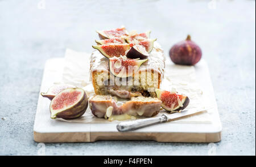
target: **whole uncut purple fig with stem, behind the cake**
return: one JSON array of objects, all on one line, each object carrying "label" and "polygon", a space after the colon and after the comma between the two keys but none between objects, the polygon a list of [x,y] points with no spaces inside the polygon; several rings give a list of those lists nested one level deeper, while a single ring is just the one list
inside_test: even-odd
[{"label": "whole uncut purple fig with stem, behind the cake", "polygon": [[200,47],[193,41],[191,36],[188,35],[187,39],[178,42],[169,52],[172,62],[177,65],[195,65],[202,57]]}]

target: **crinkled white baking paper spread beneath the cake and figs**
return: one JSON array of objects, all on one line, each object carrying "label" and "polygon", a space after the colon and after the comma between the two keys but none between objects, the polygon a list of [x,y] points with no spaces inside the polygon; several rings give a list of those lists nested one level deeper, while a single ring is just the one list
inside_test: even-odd
[{"label": "crinkled white baking paper spread beneath the cake and figs", "polygon": [[[86,94],[90,97],[94,95],[92,83],[89,81],[90,74],[90,53],[76,52],[67,49],[64,59],[64,68],[62,83],[73,84],[77,87],[82,87]],[[167,91],[177,91],[187,95],[190,99],[187,110],[204,110],[211,106],[205,106],[203,100],[203,91],[201,91],[199,84],[196,82],[196,72],[193,66],[179,66],[172,63],[166,63],[164,71],[164,79],[161,87]],[[165,110],[161,110],[157,116],[161,114],[171,114]],[[90,108],[86,110],[85,114],[80,118],[65,120],[57,118],[60,121],[68,122],[84,122],[84,123],[113,123],[120,121],[108,121],[104,118],[94,117]],[[176,123],[210,123],[210,115],[208,112],[195,115],[192,117],[179,119],[174,121]]]}]

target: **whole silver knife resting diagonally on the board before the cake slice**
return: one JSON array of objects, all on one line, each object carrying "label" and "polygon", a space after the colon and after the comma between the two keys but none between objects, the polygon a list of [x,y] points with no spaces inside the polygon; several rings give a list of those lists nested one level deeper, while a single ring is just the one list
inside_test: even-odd
[{"label": "whole silver knife resting diagonally on the board before the cake slice", "polygon": [[142,127],[146,126],[151,126],[155,125],[158,123],[163,123],[163,122],[171,122],[171,121],[176,121],[178,119],[183,119],[187,117],[191,117],[193,115],[201,114],[207,112],[206,109],[204,110],[197,110],[197,111],[189,111],[189,110],[184,110],[181,113],[173,113],[173,114],[162,114],[159,117],[154,117],[154,118],[144,118],[144,119],[138,119],[134,121],[125,121],[118,123],[117,125],[117,130],[119,132],[125,132],[125,131],[131,131],[131,130],[136,130],[140,129]]}]

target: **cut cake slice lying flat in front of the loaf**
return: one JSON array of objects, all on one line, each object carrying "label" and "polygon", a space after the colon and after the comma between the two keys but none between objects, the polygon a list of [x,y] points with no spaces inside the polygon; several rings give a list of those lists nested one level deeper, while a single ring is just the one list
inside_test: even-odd
[{"label": "cut cake slice lying flat in front of the loaf", "polygon": [[123,100],[115,96],[95,95],[89,99],[89,106],[96,117],[112,121],[115,118],[130,119],[131,116],[152,117],[159,113],[161,100],[143,96]]}]

